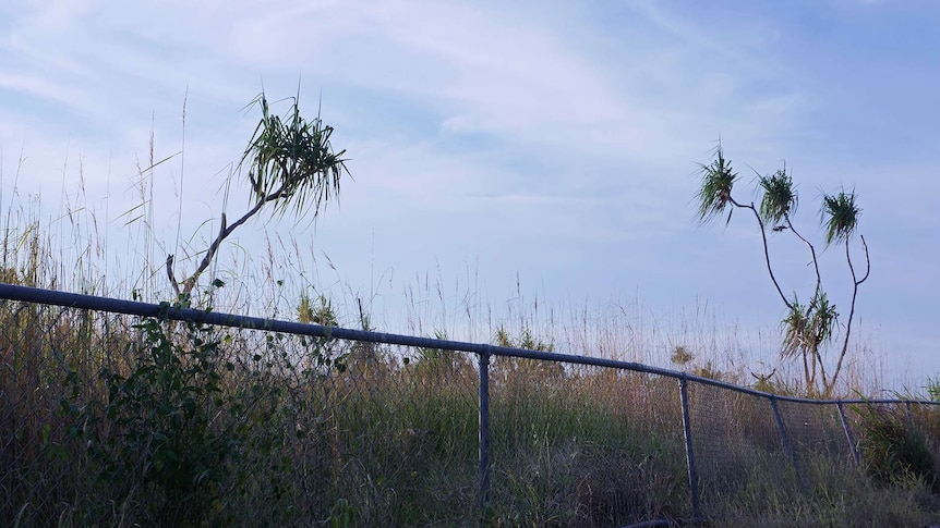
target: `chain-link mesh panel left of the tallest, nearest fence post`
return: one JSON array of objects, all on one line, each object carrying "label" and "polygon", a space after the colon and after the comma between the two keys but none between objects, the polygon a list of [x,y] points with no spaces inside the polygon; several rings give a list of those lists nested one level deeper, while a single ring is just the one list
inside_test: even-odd
[{"label": "chain-link mesh panel left of the tallest, nearest fence post", "polygon": [[10,524],[474,516],[473,355],[9,302],[0,320]]}]

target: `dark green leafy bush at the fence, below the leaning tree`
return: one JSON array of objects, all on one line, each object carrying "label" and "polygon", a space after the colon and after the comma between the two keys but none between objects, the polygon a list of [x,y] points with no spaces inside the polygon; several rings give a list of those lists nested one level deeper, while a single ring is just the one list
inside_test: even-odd
[{"label": "dark green leafy bush at the fence, below the leaning tree", "polygon": [[224,520],[227,463],[239,456],[249,408],[263,391],[224,391],[236,369],[221,354],[229,335],[186,322],[178,337],[177,326],[155,318],[137,324],[141,342],[129,351],[135,360],[99,371],[105,393],[83,402],[72,371],[61,405],[112,503],[140,501],[150,523],[200,526]]}]

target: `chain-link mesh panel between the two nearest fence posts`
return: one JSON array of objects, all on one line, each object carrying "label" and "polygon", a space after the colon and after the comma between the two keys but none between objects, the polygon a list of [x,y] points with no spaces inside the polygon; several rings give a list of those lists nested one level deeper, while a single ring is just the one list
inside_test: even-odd
[{"label": "chain-link mesh panel between the two nearest fence posts", "polygon": [[494,525],[619,526],[688,514],[675,380],[501,357]]}]

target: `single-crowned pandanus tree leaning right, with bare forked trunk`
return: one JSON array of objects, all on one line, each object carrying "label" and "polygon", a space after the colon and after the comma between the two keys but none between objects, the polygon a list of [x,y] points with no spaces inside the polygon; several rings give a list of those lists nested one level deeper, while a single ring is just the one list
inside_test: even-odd
[{"label": "single-crowned pandanus tree leaning right, with bare forked trunk", "polygon": [[219,245],[266,206],[275,214],[292,210],[298,218],[308,214],[315,218],[328,201],[338,197],[340,176],[348,172],[342,158],[346,150],[334,152],[329,143],[333,127],[324,125],[320,115],[305,120],[300,114],[299,97],[289,100],[290,109],[284,116],[272,112],[264,93],[249,103],[248,108],[260,107],[262,113],[238,164],[240,172],[248,172],[251,208],[231,224],[225,212],[221,214],[218,234],[196,269],[182,282],[176,278],[173,255],[167,257],[167,275],[178,299],[190,298]]}]

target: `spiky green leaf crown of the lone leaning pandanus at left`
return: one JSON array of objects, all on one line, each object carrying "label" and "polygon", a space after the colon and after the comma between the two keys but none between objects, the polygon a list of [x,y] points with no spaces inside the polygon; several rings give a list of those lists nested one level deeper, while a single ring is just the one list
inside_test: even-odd
[{"label": "spiky green leaf crown of the lone leaning pandanus at left", "polygon": [[[258,105],[262,120],[255,127],[241,159],[248,162],[249,181],[255,201],[275,201],[281,214],[293,208],[298,217],[312,212],[339,194],[339,179],[346,172],[345,150],[333,152],[333,127],[320,116],[306,121],[297,98],[281,118],[270,112],[264,93],[250,106]],[[312,206],[312,207],[310,207]]]}]

